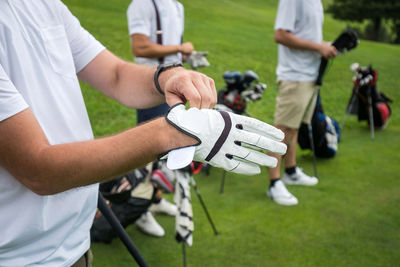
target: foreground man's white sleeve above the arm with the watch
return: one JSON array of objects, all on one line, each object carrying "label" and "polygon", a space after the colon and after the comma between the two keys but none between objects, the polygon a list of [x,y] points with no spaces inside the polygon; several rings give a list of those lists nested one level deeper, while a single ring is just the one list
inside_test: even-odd
[{"label": "foreground man's white sleeve above the arm with the watch", "polygon": [[78,73],[105,47],[81,26],[79,20],[61,1],[58,2],[58,9],[64,23],[76,73]]}]

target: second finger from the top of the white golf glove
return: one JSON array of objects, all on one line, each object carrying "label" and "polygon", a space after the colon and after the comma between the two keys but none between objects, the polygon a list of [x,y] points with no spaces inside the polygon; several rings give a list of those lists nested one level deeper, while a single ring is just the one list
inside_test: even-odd
[{"label": "second finger from the top of the white golf glove", "polygon": [[255,133],[240,132],[240,135],[238,135],[237,139],[237,141],[240,141],[244,146],[248,144],[250,146],[257,147],[259,149],[265,149],[279,155],[285,154],[287,149],[286,144]]}]

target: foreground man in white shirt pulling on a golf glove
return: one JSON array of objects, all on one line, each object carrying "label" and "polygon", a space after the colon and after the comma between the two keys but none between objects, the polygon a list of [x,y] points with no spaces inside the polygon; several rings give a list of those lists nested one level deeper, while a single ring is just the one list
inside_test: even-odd
[{"label": "foreground man in white shirt pulling on a golf glove", "polygon": [[[78,78],[128,107],[167,101],[174,108],[165,118],[93,140]],[[179,104],[187,101],[193,108]],[[261,153],[250,153],[248,163],[236,160],[249,151],[234,140],[249,132],[265,149],[284,153],[283,133],[218,114],[210,109],[215,103],[207,76],[119,59],[61,1],[0,1],[0,266],[87,266],[97,183],[170,150],[178,153],[168,159],[177,166],[208,157],[215,166],[255,174],[259,165],[276,164]],[[252,125],[268,135],[253,133]],[[176,152],[182,147],[188,148]]]}]

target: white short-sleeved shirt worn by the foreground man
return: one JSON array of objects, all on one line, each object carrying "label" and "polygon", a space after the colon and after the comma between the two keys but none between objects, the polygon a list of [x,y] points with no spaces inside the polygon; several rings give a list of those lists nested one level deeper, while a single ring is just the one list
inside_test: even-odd
[{"label": "white short-sleeved shirt worn by the foreground man", "polygon": [[[93,139],[76,73],[103,49],[61,1],[0,1],[0,121],[30,108],[53,145]],[[40,196],[1,166],[0,181],[0,266],[70,266],[90,247],[97,184]]]}]

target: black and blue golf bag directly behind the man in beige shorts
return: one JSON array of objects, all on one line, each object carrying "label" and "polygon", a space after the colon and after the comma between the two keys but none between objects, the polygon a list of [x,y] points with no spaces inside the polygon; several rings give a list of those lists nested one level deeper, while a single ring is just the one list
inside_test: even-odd
[{"label": "black and blue golf bag directly behind the man in beige shorts", "polygon": [[[338,150],[340,141],[340,128],[337,121],[325,115],[318,95],[317,104],[311,119],[312,135],[315,156],[320,158],[332,158]],[[301,149],[311,149],[308,137],[307,124],[302,123],[298,133],[298,143]]]}]

